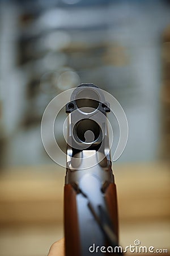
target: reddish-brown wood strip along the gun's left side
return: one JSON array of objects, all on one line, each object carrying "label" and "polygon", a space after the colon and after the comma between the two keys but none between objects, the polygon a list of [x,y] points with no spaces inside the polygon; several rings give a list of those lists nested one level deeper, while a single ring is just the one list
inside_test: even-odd
[{"label": "reddish-brown wood strip along the gun's left side", "polygon": [[80,256],[76,192],[70,184],[64,189],[65,255]]}]

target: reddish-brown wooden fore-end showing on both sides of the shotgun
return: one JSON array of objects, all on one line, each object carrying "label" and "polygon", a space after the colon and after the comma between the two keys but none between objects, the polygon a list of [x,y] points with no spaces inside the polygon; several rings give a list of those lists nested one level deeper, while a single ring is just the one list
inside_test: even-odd
[{"label": "reddish-brown wooden fore-end showing on both sides of the shotgun", "polygon": [[[118,242],[118,213],[116,185],[110,183],[105,191],[105,203],[109,217],[111,218],[114,233]],[[76,207],[76,192],[70,184],[65,185],[65,255],[80,256],[80,241],[78,227],[78,212]],[[93,242],[93,241],[92,241]],[[106,244],[109,245],[108,243]],[[88,255],[88,254],[87,254]],[[106,254],[108,255],[108,254]]]}]

